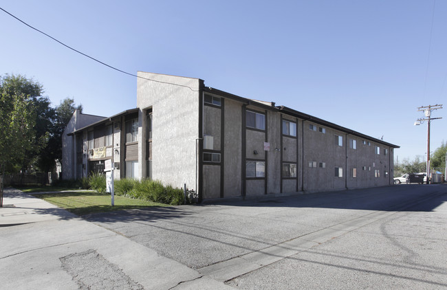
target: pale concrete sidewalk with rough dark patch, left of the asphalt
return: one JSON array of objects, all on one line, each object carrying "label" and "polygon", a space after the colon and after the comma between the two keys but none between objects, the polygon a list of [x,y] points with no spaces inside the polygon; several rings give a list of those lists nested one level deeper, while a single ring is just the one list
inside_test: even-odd
[{"label": "pale concrete sidewalk with rough dark patch, left of the asphalt", "polygon": [[0,273],[3,289],[232,289],[10,188],[0,208]]}]

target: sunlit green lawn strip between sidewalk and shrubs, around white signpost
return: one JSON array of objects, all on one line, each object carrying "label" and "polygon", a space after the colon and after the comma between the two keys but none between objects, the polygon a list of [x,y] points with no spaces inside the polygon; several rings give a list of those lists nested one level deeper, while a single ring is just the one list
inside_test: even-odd
[{"label": "sunlit green lawn strip between sidewalk and shrubs, around white signpost", "polygon": [[111,206],[110,194],[98,192],[54,192],[36,194],[34,196],[79,216],[98,212],[113,212],[115,210],[171,206],[163,203],[154,203],[152,201],[143,201],[141,199],[129,199],[128,197],[120,197],[117,195],[115,196],[115,205]]}]

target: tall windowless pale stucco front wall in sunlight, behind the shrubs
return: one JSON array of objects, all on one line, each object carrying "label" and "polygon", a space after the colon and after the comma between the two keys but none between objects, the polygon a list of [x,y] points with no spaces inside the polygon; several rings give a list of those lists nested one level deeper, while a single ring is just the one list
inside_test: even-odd
[{"label": "tall windowless pale stucco front wall in sunlight, behind the shrubs", "polygon": [[142,77],[137,81],[140,175],[146,173],[146,130],[142,115],[146,109],[152,108],[152,178],[175,187],[183,187],[186,183],[188,188],[196,189],[200,80],[142,71],[138,71],[138,76]]}]

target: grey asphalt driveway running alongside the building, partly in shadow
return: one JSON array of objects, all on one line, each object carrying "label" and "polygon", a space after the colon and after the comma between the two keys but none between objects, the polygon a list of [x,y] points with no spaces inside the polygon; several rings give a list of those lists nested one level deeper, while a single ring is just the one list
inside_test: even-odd
[{"label": "grey asphalt driveway running alongside the building, partly in shadow", "polygon": [[400,185],[87,220],[239,289],[447,289],[446,201]]}]

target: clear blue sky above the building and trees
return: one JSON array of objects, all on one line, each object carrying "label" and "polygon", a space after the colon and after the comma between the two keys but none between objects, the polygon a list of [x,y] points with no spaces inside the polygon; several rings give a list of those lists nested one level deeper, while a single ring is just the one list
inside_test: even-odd
[{"label": "clear blue sky above the building and trees", "polygon": [[[401,146],[425,159],[417,107],[446,104],[447,1],[18,1],[0,7],[80,52],[136,74],[205,80]],[[434,7],[434,9],[433,9]],[[432,24],[433,23],[433,24]],[[0,11],[0,74],[41,82],[84,113],[136,107],[136,79]],[[433,112],[431,150],[447,141]],[[443,130],[444,128],[444,130]]]}]

